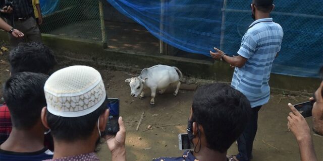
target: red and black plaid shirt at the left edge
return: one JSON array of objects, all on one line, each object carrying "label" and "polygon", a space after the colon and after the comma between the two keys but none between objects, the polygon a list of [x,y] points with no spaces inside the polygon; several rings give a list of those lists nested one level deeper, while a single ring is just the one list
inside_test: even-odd
[{"label": "red and black plaid shirt at the left edge", "polygon": [[12,123],[8,106],[0,105],[0,144],[5,142],[12,130]]}]

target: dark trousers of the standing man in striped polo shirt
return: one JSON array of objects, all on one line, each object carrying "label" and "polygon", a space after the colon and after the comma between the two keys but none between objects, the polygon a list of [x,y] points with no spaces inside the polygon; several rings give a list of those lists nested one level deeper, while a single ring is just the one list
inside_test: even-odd
[{"label": "dark trousers of the standing man in striped polo shirt", "polygon": [[249,161],[252,157],[252,144],[258,128],[258,112],[261,106],[251,109],[250,120],[243,133],[238,138],[237,159],[240,161]]}]

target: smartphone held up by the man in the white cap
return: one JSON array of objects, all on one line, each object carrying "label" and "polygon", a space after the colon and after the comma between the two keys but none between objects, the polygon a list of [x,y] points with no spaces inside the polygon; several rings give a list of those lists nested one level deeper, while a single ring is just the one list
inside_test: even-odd
[{"label": "smartphone held up by the man in the white cap", "polygon": [[116,135],[119,131],[119,105],[120,100],[117,98],[107,99],[107,108],[109,108],[109,118],[107,119],[104,134]]}]

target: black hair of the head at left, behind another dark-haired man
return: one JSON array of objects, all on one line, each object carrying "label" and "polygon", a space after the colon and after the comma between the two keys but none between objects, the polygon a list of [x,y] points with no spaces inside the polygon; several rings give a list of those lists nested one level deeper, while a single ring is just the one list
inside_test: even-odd
[{"label": "black hair of the head at left, behind another dark-haired man", "polygon": [[9,54],[11,74],[22,71],[49,74],[56,64],[53,51],[42,43],[20,43]]}]

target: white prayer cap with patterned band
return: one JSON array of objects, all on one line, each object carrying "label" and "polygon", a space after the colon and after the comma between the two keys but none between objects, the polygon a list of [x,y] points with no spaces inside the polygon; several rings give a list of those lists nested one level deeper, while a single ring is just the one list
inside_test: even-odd
[{"label": "white prayer cap with patterned band", "polygon": [[80,117],[99,108],[106,99],[100,73],[89,66],[56,71],[44,86],[47,110],[57,116]]}]

